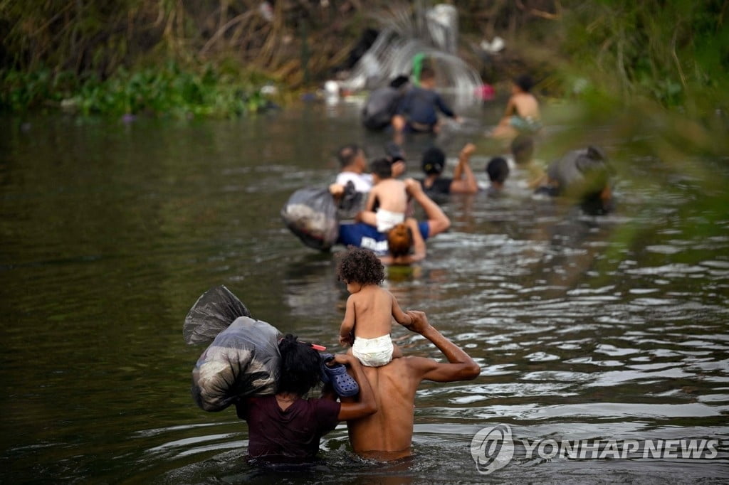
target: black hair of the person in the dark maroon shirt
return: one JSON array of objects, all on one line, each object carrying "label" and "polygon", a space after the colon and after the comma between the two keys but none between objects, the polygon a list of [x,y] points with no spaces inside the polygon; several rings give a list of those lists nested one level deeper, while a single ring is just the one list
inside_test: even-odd
[{"label": "black hair of the person in the dark maroon shirt", "polygon": [[281,362],[278,366],[276,393],[304,395],[321,382],[321,356],[311,345],[298,342],[297,337],[286,334],[278,342]]}]

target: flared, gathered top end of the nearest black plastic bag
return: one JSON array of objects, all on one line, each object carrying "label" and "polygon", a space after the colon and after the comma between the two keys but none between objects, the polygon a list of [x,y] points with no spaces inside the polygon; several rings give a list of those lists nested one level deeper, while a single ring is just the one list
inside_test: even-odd
[{"label": "flared, gathered top end of the nearest black plastic bag", "polygon": [[236,318],[250,316],[237,296],[223,285],[216,286],[203,293],[187,312],[182,335],[188,344],[207,344]]}]

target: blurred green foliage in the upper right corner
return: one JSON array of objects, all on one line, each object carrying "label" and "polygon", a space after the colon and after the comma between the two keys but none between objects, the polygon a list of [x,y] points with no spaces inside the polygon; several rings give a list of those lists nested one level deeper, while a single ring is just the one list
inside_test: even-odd
[{"label": "blurred green foliage in the upper right corner", "polygon": [[575,65],[615,82],[624,99],[706,109],[725,98],[728,7],[723,0],[580,2],[566,15],[562,47]]}]

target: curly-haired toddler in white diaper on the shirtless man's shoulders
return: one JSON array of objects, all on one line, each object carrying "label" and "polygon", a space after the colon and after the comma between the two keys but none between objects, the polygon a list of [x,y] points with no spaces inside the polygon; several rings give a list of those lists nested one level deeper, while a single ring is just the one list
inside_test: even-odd
[{"label": "curly-haired toddler in white diaper on the shirtless man's shoulders", "polygon": [[363,366],[380,367],[402,357],[390,337],[392,318],[403,326],[413,320],[400,309],[397,299],[381,288],[385,269],[380,259],[369,249],[351,248],[339,260],[337,272],[350,293],[339,343],[351,345],[351,354]]}]

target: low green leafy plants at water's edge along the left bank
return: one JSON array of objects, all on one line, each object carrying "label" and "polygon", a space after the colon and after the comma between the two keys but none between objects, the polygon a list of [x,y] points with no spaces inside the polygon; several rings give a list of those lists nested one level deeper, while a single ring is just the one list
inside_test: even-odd
[{"label": "low green leafy plants at water's edge along the left bank", "polygon": [[78,114],[168,117],[236,117],[270,106],[264,85],[241,82],[212,65],[200,71],[167,63],[161,68],[117,70],[107,79],[68,71],[7,71],[1,79],[0,109],[63,109]]}]

